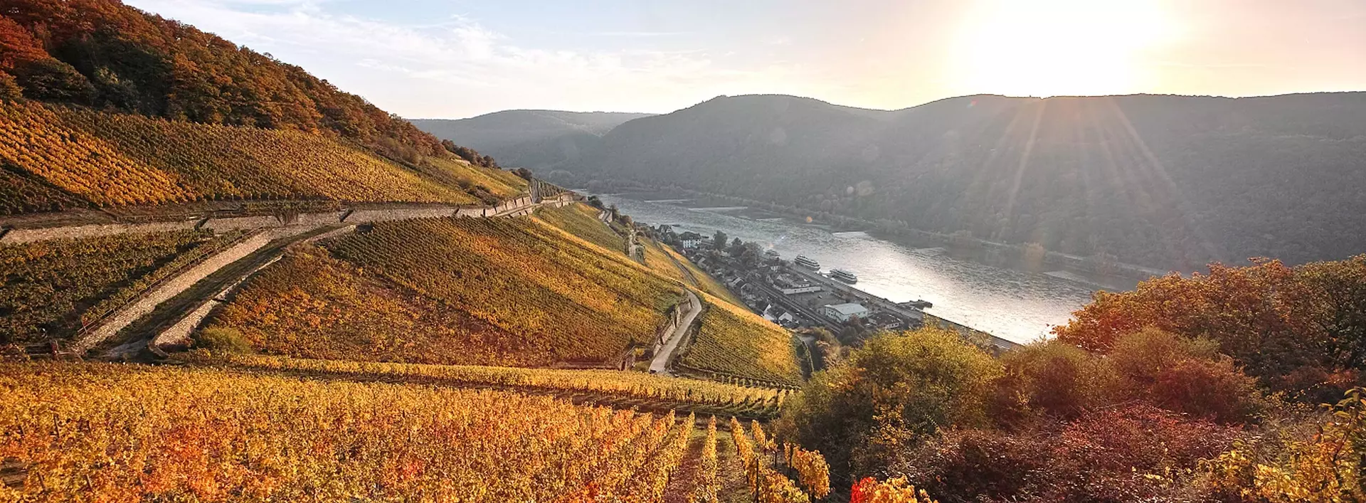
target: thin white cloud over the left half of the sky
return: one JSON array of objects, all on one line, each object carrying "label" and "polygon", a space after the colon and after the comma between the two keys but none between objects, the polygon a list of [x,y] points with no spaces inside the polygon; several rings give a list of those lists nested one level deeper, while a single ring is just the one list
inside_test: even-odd
[{"label": "thin white cloud over the left half of the sky", "polygon": [[705,51],[529,48],[458,15],[404,25],[339,14],[328,0],[128,3],[270,52],[406,116],[527,107],[668,112],[716,94],[800,93],[795,83],[816,81],[783,64],[725,67]]}]

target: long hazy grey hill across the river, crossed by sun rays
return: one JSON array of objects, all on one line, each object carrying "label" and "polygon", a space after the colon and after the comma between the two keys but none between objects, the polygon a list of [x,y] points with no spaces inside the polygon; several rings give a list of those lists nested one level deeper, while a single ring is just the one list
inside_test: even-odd
[{"label": "long hazy grey hill across the river, crossed by sun rays", "polygon": [[1366,93],[970,96],[895,112],[719,97],[623,123],[578,179],[1191,271],[1366,249]]}]

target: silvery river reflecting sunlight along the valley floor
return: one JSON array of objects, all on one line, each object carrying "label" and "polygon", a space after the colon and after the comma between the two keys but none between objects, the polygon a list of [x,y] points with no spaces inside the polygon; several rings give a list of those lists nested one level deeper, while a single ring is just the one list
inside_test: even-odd
[{"label": "silvery river reflecting sunlight along the valley floor", "polygon": [[893,302],[926,299],[928,313],[1014,342],[1030,342],[1067,323],[1096,290],[1044,273],[999,268],[955,258],[943,249],[912,249],[863,232],[829,232],[791,220],[753,220],[728,209],[698,209],[682,201],[650,202],[622,195],[600,195],[641,223],[675,224],[679,232],[757,242],[783,258],[816,258],[821,271],[852,271],[855,287]]}]

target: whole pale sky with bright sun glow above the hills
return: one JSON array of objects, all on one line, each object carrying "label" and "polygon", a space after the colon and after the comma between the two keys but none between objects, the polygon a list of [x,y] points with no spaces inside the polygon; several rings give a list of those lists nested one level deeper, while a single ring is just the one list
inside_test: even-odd
[{"label": "whole pale sky with bright sun glow above the hills", "polygon": [[1366,0],[124,0],[407,118],[1366,90]]}]

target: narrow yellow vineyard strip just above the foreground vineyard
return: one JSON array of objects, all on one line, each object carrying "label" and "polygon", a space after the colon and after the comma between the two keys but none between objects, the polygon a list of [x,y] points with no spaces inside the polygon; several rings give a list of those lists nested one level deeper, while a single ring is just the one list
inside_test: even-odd
[{"label": "narrow yellow vineyard strip just above the foreground vineyard", "polygon": [[519,369],[507,366],[460,366],[347,362],[243,354],[199,357],[186,361],[229,365],[235,369],[270,370],[290,375],[325,376],[347,380],[421,383],[454,387],[486,387],[542,392],[574,402],[632,406],[642,410],[690,410],[705,414],[772,418],[788,391],[721,384],[708,380],[672,379],[637,372]]}]

